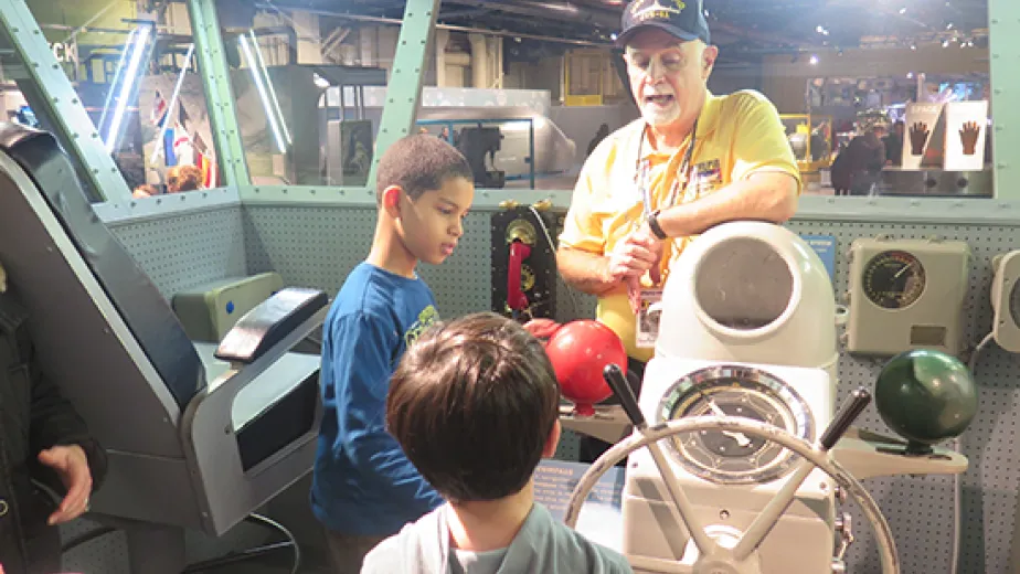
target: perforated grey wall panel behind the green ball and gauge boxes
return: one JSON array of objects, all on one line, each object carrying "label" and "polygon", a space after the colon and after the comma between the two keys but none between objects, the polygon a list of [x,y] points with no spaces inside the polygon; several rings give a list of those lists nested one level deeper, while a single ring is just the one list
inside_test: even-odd
[{"label": "perforated grey wall panel behind the green ball and gauge boxes", "polygon": [[[991,258],[1014,245],[1020,228],[1014,226],[957,225],[805,221],[790,222],[800,234],[832,235],[837,240],[837,300],[847,302],[851,243],[858,237],[886,235],[891,238],[920,240],[941,237],[965,241],[970,245],[971,262],[966,301],[965,337],[970,349],[991,330],[989,300]],[[884,362],[842,354],[839,362],[839,401],[858,387],[873,389]],[[1017,487],[1020,485],[1020,458],[1016,456],[1013,436],[1020,421],[1020,361],[988,346],[978,358],[975,380],[978,384],[978,414],[960,437],[961,451],[969,468],[961,477],[964,496],[961,574],[1007,574],[1014,530]],[[878,411],[869,407],[859,425],[892,434]],[[947,445],[948,446],[948,445]],[[942,476],[871,479],[865,486],[890,522],[902,561],[902,572],[928,572],[933,565],[947,564],[953,543],[953,478]],[[879,573],[872,534],[856,509],[858,542],[848,557],[851,572]]]}]

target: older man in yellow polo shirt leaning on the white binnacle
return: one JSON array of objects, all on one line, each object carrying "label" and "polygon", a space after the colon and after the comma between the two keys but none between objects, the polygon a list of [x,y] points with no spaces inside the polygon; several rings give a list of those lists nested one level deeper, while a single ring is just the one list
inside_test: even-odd
[{"label": "older man in yellow polo shirt leaning on the white binnacle", "polygon": [[597,319],[623,339],[639,384],[655,333],[639,332],[638,311],[670,263],[719,223],[788,220],[801,182],[765,96],[709,92],[719,49],[701,0],[633,1],[618,43],[641,118],[585,161],[556,261],[567,283],[598,297]]}]

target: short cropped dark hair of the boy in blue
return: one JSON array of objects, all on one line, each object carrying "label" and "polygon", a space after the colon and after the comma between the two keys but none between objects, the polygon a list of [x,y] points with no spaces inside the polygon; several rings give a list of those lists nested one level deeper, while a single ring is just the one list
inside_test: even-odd
[{"label": "short cropped dark hair of the boy in blue", "polygon": [[399,185],[412,200],[426,191],[443,187],[449,178],[475,181],[471,167],[456,148],[436,136],[416,134],[393,142],[375,171],[375,199],[382,201],[383,191]]}]

